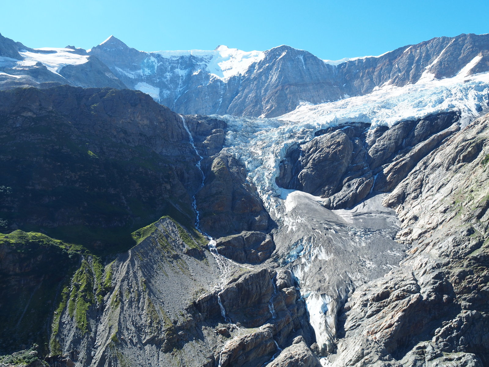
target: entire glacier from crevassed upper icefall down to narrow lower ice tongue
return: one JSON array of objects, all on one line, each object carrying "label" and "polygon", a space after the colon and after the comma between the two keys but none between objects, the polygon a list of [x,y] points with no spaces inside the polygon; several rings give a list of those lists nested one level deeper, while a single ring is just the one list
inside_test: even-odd
[{"label": "entire glacier from crevassed upper icefall down to narrow lower ice tongue", "polygon": [[[396,232],[396,217],[393,211],[380,205],[384,194],[362,203],[362,208],[330,211],[321,206],[321,198],[297,190],[285,190],[275,183],[279,173],[280,162],[291,149],[315,138],[314,133],[333,125],[346,122],[367,122],[371,128],[378,125],[393,126],[399,121],[421,118],[426,115],[459,111],[460,124],[470,121],[488,111],[489,73],[468,75],[472,66],[480,58],[474,58],[454,77],[435,79],[428,72],[415,84],[404,87],[384,85],[378,90],[363,96],[349,97],[335,102],[318,105],[302,104],[277,118],[218,116],[228,124],[223,154],[231,155],[241,161],[247,170],[247,180],[255,185],[270,216],[291,236],[294,236],[293,247],[285,249],[282,254],[284,265],[289,265],[292,274],[301,287],[310,314],[311,325],[315,330],[317,343],[321,350],[331,351],[334,345],[335,317],[341,302],[348,297],[352,287],[360,284],[362,274],[359,270],[346,271],[345,274],[353,284],[348,282],[339,286],[335,297],[318,292],[311,288],[311,266],[314,261],[328,261],[334,257],[330,245],[354,246],[357,250],[368,248],[375,238],[370,229],[354,224],[355,216],[364,206],[383,216],[382,230]],[[426,68],[428,69],[428,68]],[[383,208],[383,209],[382,209]],[[317,211],[318,220],[310,211]],[[383,212],[382,212],[383,210]],[[360,213],[361,214],[361,213]],[[351,224],[345,234],[340,233],[331,223]],[[315,225],[318,226],[315,226]],[[297,234],[297,229],[311,226],[308,234]],[[323,228],[321,228],[323,226]],[[341,225],[344,228],[344,224]],[[341,227],[340,226],[340,227]],[[390,229],[388,229],[390,228]],[[300,231],[299,231],[300,232]],[[392,234],[393,236],[393,234]],[[392,237],[391,237],[392,238]],[[367,252],[359,255],[359,262],[364,269],[393,269],[399,266],[403,249],[395,248],[395,242],[386,243],[374,260]],[[376,255],[377,257],[377,255]],[[378,263],[376,264],[375,261]]]}]

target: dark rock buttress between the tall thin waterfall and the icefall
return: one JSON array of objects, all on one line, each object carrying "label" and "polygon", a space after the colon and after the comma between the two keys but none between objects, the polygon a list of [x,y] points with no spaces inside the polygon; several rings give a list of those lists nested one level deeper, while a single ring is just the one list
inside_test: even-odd
[{"label": "dark rock buttress between the tall thin waterfall and the icefall", "polygon": [[[224,143],[225,122],[209,116],[185,118],[195,146],[203,157],[200,162],[204,174],[203,186],[195,196],[200,212],[200,228],[213,237],[269,229],[268,213],[256,188],[247,182],[243,165],[232,157],[219,154]],[[249,262],[261,262],[273,251],[267,242],[263,249],[258,249],[261,253],[258,255],[255,247],[259,245],[255,246],[250,241],[256,242],[254,239],[246,242],[245,251],[253,251]],[[247,255],[236,256],[239,261],[246,261]]]}]

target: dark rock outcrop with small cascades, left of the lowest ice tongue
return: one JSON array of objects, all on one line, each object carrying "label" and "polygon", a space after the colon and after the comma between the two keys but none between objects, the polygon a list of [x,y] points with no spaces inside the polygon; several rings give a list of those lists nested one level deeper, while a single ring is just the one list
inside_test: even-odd
[{"label": "dark rock outcrop with small cascades, left of the lowest ice tongue", "polygon": [[[277,287],[276,279],[283,288]],[[235,335],[216,349],[216,366],[261,366],[298,335],[309,344],[315,340],[304,301],[285,269],[237,275],[222,290],[200,296],[194,305],[202,320],[227,324],[219,333]]]}]

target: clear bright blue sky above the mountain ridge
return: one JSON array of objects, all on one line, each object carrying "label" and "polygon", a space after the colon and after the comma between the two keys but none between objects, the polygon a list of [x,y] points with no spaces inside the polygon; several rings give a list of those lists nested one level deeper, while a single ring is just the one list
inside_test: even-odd
[{"label": "clear bright blue sky above the mountain ridge", "polygon": [[90,48],[113,34],[144,51],[286,44],[336,60],[489,33],[489,0],[0,0],[0,9],[0,33],[33,48]]}]

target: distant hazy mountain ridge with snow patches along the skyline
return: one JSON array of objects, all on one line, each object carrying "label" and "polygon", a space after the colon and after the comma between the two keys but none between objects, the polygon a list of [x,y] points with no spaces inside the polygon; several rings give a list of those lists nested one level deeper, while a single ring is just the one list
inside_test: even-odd
[{"label": "distant hazy mountain ridge with snow patches along the skyline", "polygon": [[[29,49],[23,53],[25,46],[4,38],[0,46],[7,57],[13,56],[0,64],[4,72],[2,89],[26,85],[45,88],[49,83],[131,88],[150,94],[179,113],[201,115],[274,117],[294,110],[304,101],[317,104],[364,95],[385,85],[416,83],[427,75],[448,78],[466,66],[467,75],[489,71],[487,34],[433,38],[378,57],[338,65],[289,46],[264,52],[226,46],[213,51],[143,52],[111,36],[86,52],[87,59],[67,66],[60,62],[56,73],[46,69],[44,59],[36,54],[51,52],[56,60],[63,52],[82,56],[85,50]],[[22,58],[33,61],[19,70],[15,68],[16,60]]]}]

